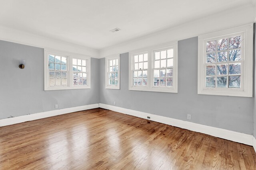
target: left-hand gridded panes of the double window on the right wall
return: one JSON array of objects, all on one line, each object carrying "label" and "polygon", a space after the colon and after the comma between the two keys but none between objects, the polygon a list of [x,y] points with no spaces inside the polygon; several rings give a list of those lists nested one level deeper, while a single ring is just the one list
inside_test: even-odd
[{"label": "left-hand gridded panes of the double window on the right wall", "polygon": [[132,55],[133,61],[133,85],[148,85],[148,53]]}]

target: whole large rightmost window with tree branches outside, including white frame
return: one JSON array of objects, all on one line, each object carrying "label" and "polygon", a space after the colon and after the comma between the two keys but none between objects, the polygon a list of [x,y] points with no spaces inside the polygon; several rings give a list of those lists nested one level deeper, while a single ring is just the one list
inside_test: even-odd
[{"label": "whole large rightmost window with tree branches outside, including white frame", "polygon": [[198,37],[198,94],[252,97],[252,28]]}]

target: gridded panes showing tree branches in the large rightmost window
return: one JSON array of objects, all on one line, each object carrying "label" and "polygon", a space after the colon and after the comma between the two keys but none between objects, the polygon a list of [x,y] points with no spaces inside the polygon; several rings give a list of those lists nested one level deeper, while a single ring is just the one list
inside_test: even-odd
[{"label": "gridded panes showing tree branches in the large rightmost window", "polygon": [[241,88],[242,35],[206,42],[206,88]]}]

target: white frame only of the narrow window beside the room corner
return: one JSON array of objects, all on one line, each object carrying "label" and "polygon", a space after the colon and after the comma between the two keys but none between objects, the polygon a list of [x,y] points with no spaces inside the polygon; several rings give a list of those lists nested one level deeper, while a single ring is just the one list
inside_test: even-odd
[{"label": "white frame only of the narrow window beside the room corner", "polygon": [[[118,84],[109,85],[108,84],[108,73],[109,73],[109,61],[113,59],[118,59]],[[107,89],[120,89],[120,55],[114,55],[110,57],[105,57],[105,88]]]}]

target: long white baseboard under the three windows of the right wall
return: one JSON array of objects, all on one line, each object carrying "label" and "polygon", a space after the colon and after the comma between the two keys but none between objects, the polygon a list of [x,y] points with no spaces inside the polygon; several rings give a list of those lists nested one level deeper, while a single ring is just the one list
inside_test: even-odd
[{"label": "long white baseboard under the three windows of the right wall", "polygon": [[245,133],[239,133],[239,132],[230,131],[230,130],[226,130],[226,129],[220,129],[217,127],[201,125],[198,123],[192,123],[192,122],[188,122],[188,121],[172,119],[170,117],[153,115],[150,113],[144,113],[141,111],[125,109],[122,107],[116,107],[116,106],[111,106],[111,105],[106,105],[106,104],[101,104],[101,103],[100,103],[99,107],[104,108],[104,109],[109,109],[112,111],[116,111],[116,112],[120,112],[120,113],[124,113],[127,115],[140,117],[143,119],[147,119],[147,116],[150,116],[150,120],[152,120],[152,121],[164,123],[167,125],[172,125],[175,127],[180,127],[182,129],[188,129],[190,131],[204,133],[207,135],[212,135],[214,137],[219,137],[222,139],[227,139],[227,140],[238,142],[238,143],[244,143],[246,145],[254,146],[254,149],[256,148],[256,140],[253,137],[253,135],[248,135]]}]

